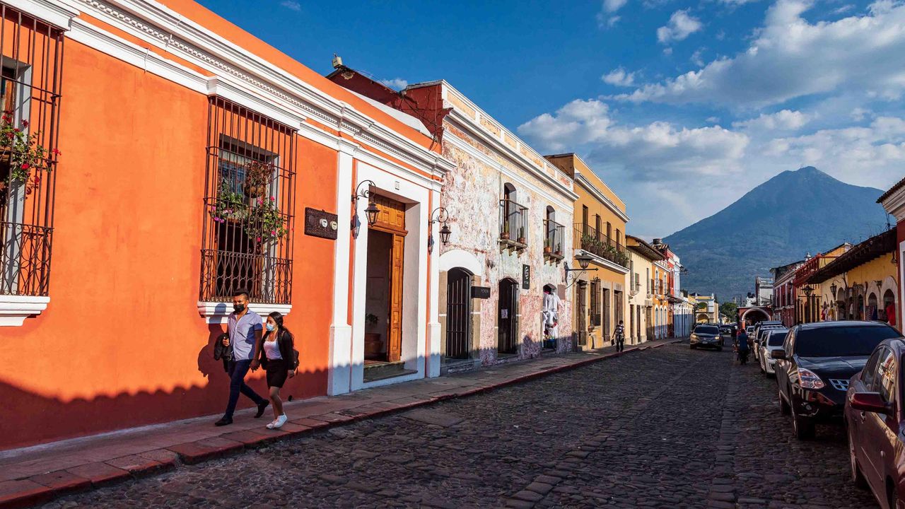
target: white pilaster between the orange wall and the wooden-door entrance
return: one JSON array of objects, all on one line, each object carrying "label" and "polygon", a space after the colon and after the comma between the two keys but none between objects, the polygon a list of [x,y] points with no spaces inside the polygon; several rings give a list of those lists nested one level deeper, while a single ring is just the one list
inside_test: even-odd
[{"label": "white pilaster between the orange wall and the wooden-door entrance", "polygon": [[348,323],[348,263],[351,253],[349,227],[352,215],[352,160],[356,147],[340,141],[337,157],[337,235],[333,255],[333,320],[330,323],[330,352],[327,394],[349,391],[352,373],[352,326]]}]

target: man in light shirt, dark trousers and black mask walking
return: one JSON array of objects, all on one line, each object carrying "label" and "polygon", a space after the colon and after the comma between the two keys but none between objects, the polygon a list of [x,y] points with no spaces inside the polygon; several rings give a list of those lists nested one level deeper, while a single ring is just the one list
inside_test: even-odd
[{"label": "man in light shirt, dark trousers and black mask walking", "polygon": [[261,338],[263,321],[261,315],[248,309],[248,292],[237,290],[233,293],[233,310],[227,322],[229,339],[224,339],[224,346],[233,345],[233,359],[228,363],[229,402],[226,404],[224,417],[214,423],[216,426],[233,424],[233,412],[239,402],[239,393],[243,393],[258,406],[255,418],[264,414],[264,408],[269,404],[267,399],[258,396],[251,387],[245,385],[245,375],[248,370],[257,370],[261,355]]}]

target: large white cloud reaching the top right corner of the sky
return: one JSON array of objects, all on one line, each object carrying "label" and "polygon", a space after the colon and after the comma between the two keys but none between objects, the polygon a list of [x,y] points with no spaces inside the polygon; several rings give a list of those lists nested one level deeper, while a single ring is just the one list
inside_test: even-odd
[{"label": "large white cloud reaching the top right corner of the sky", "polygon": [[[802,0],[778,0],[745,52],[616,99],[763,107],[844,91],[900,98],[905,91],[905,5],[883,0],[872,4],[869,14],[814,24],[802,18],[809,7]],[[664,36],[675,39],[672,31]]]}]

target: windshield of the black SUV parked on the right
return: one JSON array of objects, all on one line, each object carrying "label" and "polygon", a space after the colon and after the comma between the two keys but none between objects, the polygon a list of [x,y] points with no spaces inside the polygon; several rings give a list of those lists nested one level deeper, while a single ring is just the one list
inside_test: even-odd
[{"label": "windshield of the black SUV parked on the right", "polygon": [[883,340],[899,337],[889,326],[845,325],[802,329],[795,333],[801,357],[867,357]]}]

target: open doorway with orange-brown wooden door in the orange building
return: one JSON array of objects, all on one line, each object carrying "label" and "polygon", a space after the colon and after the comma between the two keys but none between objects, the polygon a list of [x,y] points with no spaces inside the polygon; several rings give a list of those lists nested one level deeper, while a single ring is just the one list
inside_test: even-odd
[{"label": "open doorway with orange-brown wooden door in the orange building", "polygon": [[380,213],[367,231],[366,367],[402,359],[405,204],[376,195],[373,199]]}]

